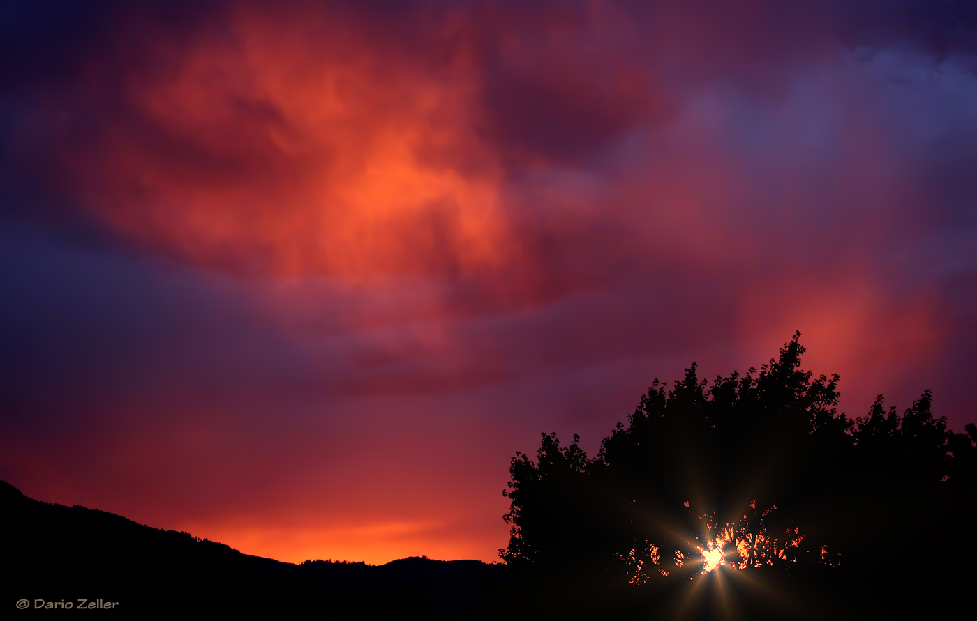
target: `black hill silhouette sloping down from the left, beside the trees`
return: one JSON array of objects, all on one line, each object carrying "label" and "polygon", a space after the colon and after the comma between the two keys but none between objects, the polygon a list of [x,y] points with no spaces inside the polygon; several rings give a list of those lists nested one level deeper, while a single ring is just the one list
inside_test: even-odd
[{"label": "black hill silhouette sloping down from the left, beside the trees", "polygon": [[0,482],[0,514],[3,606],[28,600],[19,615],[40,612],[35,600],[77,606],[84,599],[144,618],[192,610],[488,619],[502,587],[496,568],[479,560],[410,558],[374,566],[253,557],[185,532],[32,500],[6,482]]}]

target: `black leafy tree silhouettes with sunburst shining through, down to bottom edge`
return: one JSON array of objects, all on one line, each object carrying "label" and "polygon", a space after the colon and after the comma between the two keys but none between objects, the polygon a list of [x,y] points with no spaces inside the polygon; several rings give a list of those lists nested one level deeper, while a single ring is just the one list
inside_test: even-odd
[{"label": "black leafy tree silhouettes with sunburst shining through, down to bottom edge", "polygon": [[517,453],[513,618],[974,614],[977,428],[929,391],[838,413],[799,336],[759,372],[656,380],[592,458],[576,435]]}]

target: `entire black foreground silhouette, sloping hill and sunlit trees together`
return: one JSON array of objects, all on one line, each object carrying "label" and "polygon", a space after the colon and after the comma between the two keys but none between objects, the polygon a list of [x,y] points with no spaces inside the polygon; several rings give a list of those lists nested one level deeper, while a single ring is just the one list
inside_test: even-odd
[{"label": "entire black foreground silhouette, sloping hill and sunlit trees together", "polygon": [[[974,614],[977,427],[922,393],[837,411],[838,377],[777,359],[654,382],[588,457],[517,453],[502,563],[381,566],[243,555],[187,533],[26,498],[0,482],[2,605],[117,601],[140,617],[902,619]],[[111,613],[99,613],[111,614]]]}]

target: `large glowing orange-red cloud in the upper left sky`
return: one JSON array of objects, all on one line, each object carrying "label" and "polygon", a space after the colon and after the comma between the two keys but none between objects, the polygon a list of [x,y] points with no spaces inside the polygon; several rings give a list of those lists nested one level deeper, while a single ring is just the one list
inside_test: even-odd
[{"label": "large glowing orange-red cloud in the upper left sky", "polygon": [[242,9],[179,49],[150,33],[138,53],[178,61],[123,78],[143,135],[109,125],[70,154],[85,206],[198,265],[361,280],[509,260],[471,55],[431,67],[351,25]]}]

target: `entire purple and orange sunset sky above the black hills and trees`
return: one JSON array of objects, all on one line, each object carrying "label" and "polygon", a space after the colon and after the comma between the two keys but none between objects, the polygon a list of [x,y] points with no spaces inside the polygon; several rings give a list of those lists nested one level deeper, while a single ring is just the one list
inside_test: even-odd
[{"label": "entire purple and orange sunset sky above the black hills and trees", "polygon": [[977,420],[977,5],[5,2],[0,479],[497,560],[516,451],[793,335]]}]

